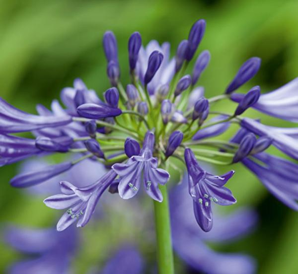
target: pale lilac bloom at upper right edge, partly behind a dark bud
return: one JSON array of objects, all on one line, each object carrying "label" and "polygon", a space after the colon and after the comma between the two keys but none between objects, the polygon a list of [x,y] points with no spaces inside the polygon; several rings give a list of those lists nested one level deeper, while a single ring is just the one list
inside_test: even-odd
[{"label": "pale lilac bloom at upper right edge, partly behind a dark bud", "polygon": [[[284,86],[262,94],[252,107],[270,116],[298,122],[298,78]],[[231,100],[240,102],[244,94],[232,94]]]}]

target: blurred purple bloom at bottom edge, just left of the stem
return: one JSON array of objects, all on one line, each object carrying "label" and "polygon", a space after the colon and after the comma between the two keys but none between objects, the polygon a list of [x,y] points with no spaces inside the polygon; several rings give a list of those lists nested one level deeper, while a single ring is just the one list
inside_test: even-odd
[{"label": "blurred purple bloom at bottom edge, just left of the stem", "polygon": [[101,270],[100,274],[142,274],[144,260],[139,251],[125,245],[114,254]]}]

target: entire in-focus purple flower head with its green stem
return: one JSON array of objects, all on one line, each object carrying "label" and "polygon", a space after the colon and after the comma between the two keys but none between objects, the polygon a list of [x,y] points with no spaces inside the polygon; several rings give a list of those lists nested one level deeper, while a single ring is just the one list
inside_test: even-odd
[{"label": "entire in-focus purple flower head with its green stem", "polygon": [[[198,160],[218,165],[241,162],[277,199],[298,210],[298,165],[264,152],[274,145],[297,160],[298,130],[267,126],[243,116],[252,107],[297,122],[298,78],[266,94],[261,94],[259,86],[251,87],[246,94],[235,93],[260,68],[261,60],[252,57],[239,68],[222,94],[211,98],[207,94],[206,98],[204,88],[197,82],[210,62],[209,51],[202,51],[194,60],[205,28],[205,20],[195,22],[173,58],[169,56],[168,43],[159,45],[152,40],[143,47],[140,33],[133,33],[128,41],[131,81],[126,87],[121,82],[116,38],[107,31],[103,48],[111,88],[103,93],[103,100],[80,79],[74,80],[74,87],[61,91],[64,107],[58,100],[52,102],[51,110],[37,105],[38,115],[25,113],[0,99],[0,165],[52,153],[77,155],[43,170],[19,174],[11,179],[13,187],[41,184],[87,158],[104,163],[107,168],[105,175],[87,187],[57,182],[61,193],[44,203],[65,209],[57,225],[59,231],[74,222],[78,227],[86,225],[105,190],[131,199],[143,188],[156,201],[157,242],[163,241],[169,250],[165,185],[170,178],[168,167],[177,167],[177,161],[185,165],[194,216],[206,232],[212,229],[213,204],[228,206],[236,202],[225,187],[234,171],[213,175]],[[191,74],[186,74],[191,66]],[[220,100],[234,101],[235,111],[215,111]],[[210,139],[227,131],[230,123],[239,126],[231,140]],[[32,137],[14,135],[22,132],[31,132]],[[167,263],[171,260],[165,260],[171,252],[166,254],[164,250],[158,250],[159,271],[171,273],[171,262]]]}]

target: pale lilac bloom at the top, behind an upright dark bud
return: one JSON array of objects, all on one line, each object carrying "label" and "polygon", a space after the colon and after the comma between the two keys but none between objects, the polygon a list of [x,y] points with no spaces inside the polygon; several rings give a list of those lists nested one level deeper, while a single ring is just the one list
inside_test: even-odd
[{"label": "pale lilac bloom at the top, behind an upright dark bud", "polygon": [[162,84],[169,84],[175,73],[175,59],[169,60],[170,56],[170,44],[163,43],[159,46],[158,42],[152,40],[149,42],[146,48],[141,47],[139,52],[139,59],[137,62],[136,71],[139,75],[141,82],[144,84],[144,76],[148,68],[149,56],[153,51],[162,53],[163,60],[160,68],[157,70],[151,81],[147,86],[149,95],[156,93],[157,88]]}]

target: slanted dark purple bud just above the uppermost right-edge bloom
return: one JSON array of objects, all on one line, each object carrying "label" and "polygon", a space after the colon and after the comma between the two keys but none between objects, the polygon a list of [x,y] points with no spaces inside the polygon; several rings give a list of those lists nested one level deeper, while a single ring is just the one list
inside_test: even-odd
[{"label": "slanted dark purple bud just above the uppermost right-edge bloom", "polygon": [[238,70],[234,79],[229,83],[225,90],[226,94],[230,94],[236,90],[239,86],[250,80],[260,69],[261,59],[258,57],[252,57],[248,59]]}]

